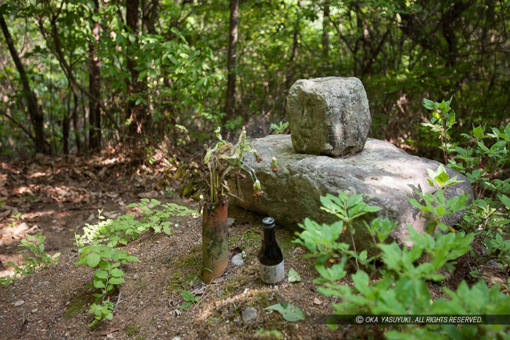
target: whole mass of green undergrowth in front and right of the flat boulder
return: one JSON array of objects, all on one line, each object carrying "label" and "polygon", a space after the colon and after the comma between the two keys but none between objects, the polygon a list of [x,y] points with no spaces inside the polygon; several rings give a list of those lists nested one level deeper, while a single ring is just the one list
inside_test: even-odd
[{"label": "whole mass of green undergrowth in front and right of the flat boulder", "polygon": [[[353,320],[344,320],[342,315],[507,315],[510,311],[510,297],[502,291],[508,290],[508,265],[510,259],[510,241],[508,224],[510,222],[509,179],[502,178],[505,167],[510,165],[508,143],[510,142],[510,124],[506,127],[492,128],[492,133],[484,135],[486,126],[473,126],[472,135],[466,147],[451,143],[448,130],[455,123],[455,114],[450,108],[451,99],[442,103],[425,101],[425,107],[434,110],[433,118],[426,126],[439,135],[448,166],[465,174],[475,192],[475,199],[467,206],[467,193],[447,200],[447,187],[460,182],[450,178],[443,166],[429,169],[429,184],[436,191],[421,193],[416,191],[420,201],[408,198],[410,204],[417,207],[428,220],[426,232],[420,235],[409,226],[411,249],[400,247],[396,242],[388,241],[389,234],[395,228],[391,221],[380,218],[370,224],[365,223],[372,236],[372,247],[376,255],[367,257],[367,251],[357,252],[355,244],[338,242],[341,234],[352,235],[352,223],[361,215],[377,211],[363,203],[363,197],[347,197],[341,193],[338,197],[321,197],[322,209],[335,214],[339,221],[333,224],[319,225],[305,219],[302,232],[295,242],[307,247],[315,258],[315,268],[320,277],[314,282],[320,284],[318,291],[324,296],[340,298],[333,303],[336,318],[330,319],[330,327],[339,324],[355,324]],[[483,140],[487,141],[484,142]],[[453,160],[448,155],[453,155]],[[458,162],[457,162],[458,161]],[[444,217],[465,210],[462,220],[454,227],[443,223]],[[351,249],[352,246],[352,249]],[[377,260],[377,261],[376,261]],[[375,264],[382,263],[379,267]],[[349,273],[347,264],[355,269]],[[490,264],[493,272],[506,275],[507,281],[490,288],[480,275],[480,268]],[[440,271],[442,270],[442,271]],[[427,282],[444,282],[444,271],[468,271],[473,284],[462,280],[456,291],[443,285],[444,297],[432,300]],[[375,273],[380,279],[371,280]],[[340,284],[346,276],[354,287]],[[461,275],[462,276],[462,275]],[[363,332],[363,326],[355,332]],[[504,338],[509,325],[374,325],[375,336],[390,339],[460,339],[460,338]],[[360,333],[361,334],[361,333]],[[358,334],[359,335],[359,334]]]}]

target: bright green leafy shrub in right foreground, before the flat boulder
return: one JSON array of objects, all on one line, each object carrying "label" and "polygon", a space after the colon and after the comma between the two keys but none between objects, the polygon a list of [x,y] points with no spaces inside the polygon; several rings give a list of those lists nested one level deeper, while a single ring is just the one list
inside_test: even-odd
[{"label": "bright green leafy shrub in right foreground, before the flat boulder", "polygon": [[[443,179],[443,182],[448,182],[450,178],[444,168],[442,170],[438,169],[436,174]],[[432,171],[432,173],[434,172]],[[433,182],[431,184],[435,185]],[[335,200],[321,198],[323,204],[327,202],[323,209],[335,213],[335,215],[340,214],[341,221],[331,225],[319,225],[307,219],[301,226],[304,231],[296,233],[300,238],[296,242],[311,251],[309,256],[317,257],[315,268],[320,277],[314,282],[322,285],[318,287],[318,291],[324,296],[335,296],[341,299],[342,302],[332,304],[336,313],[347,315],[401,315],[407,313],[412,315],[448,313],[495,315],[506,314],[510,310],[510,297],[501,293],[497,286],[489,289],[483,281],[476,283],[471,288],[465,281],[462,281],[456,292],[443,287],[445,297],[431,301],[427,281],[444,280],[445,277],[438,271],[440,269],[453,270],[456,260],[471,251],[470,244],[475,239],[474,233],[455,232],[455,230],[446,234],[434,232],[437,227],[447,230],[446,226],[442,224],[441,218],[465,208],[467,194],[446,200],[443,189],[439,188],[436,196],[421,195],[421,203],[410,199],[411,203],[420,208],[430,220],[428,232],[423,235],[409,226],[410,239],[414,242],[411,249],[401,248],[396,242],[382,243],[395,227],[395,224],[390,221],[375,219],[370,224],[365,223],[372,235],[373,246],[379,250],[379,253],[371,258],[367,258],[366,250],[358,254],[355,251],[350,251],[348,244],[336,241],[346,229],[343,223],[349,215],[348,212],[356,211],[352,210],[355,206],[352,203],[360,204],[360,199],[362,200],[362,197],[352,197],[350,198],[351,204],[345,205],[345,202],[349,201],[349,199],[345,200],[345,196],[345,194],[341,194]],[[351,214],[351,216],[354,215]],[[353,217],[353,219],[357,217]],[[339,280],[347,276],[346,263],[352,258],[358,259],[366,269],[370,270],[367,272],[358,269],[350,275],[354,283],[353,288],[338,283]],[[374,274],[375,265],[369,265],[368,262],[374,259],[380,259],[384,263],[384,266],[378,269],[381,276],[378,281],[371,281],[370,277]],[[336,327],[335,324],[330,326]],[[438,338],[438,336],[456,339],[502,338],[508,328],[510,328],[508,325],[462,325],[457,327],[455,325],[427,324],[420,328],[417,328],[416,325],[393,325],[390,330],[386,330],[384,326],[376,326],[375,330],[379,335],[384,334],[387,338],[392,339],[430,339]]]}]

